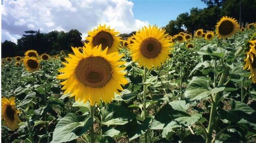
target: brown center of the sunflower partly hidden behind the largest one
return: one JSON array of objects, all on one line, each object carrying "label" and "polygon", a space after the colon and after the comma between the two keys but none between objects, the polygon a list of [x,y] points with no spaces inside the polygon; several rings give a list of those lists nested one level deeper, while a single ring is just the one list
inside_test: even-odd
[{"label": "brown center of the sunflower partly hidden behind the largest one", "polygon": [[114,39],[112,35],[108,32],[101,31],[93,38],[93,45],[97,46],[101,44],[101,49],[104,50],[106,47],[111,48]]}]

